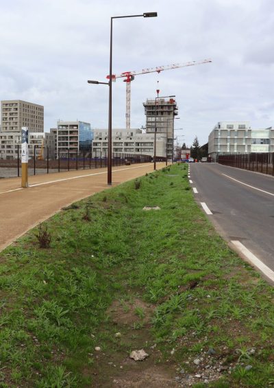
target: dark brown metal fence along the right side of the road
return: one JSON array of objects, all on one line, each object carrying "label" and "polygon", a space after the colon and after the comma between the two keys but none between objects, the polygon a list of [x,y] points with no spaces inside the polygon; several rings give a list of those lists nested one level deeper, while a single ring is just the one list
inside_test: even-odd
[{"label": "dark brown metal fence along the right side of the road", "polygon": [[218,163],[274,176],[274,152],[219,155]]}]

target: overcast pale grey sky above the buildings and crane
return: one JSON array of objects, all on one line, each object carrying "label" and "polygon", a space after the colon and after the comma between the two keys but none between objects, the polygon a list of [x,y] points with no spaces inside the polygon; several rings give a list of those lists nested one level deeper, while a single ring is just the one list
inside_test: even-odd
[{"label": "overcast pale grey sky above the buildings and crane", "polygon": [[[211,58],[212,63],[136,76],[131,126],[145,125],[142,102],[176,95],[182,144],[208,141],[219,121],[274,119],[273,0],[0,0],[0,100],[45,106],[45,131],[58,119],[108,128],[110,17],[113,73]],[[113,128],[125,128],[125,82],[113,84]],[[185,137],[182,137],[184,135]]]}]

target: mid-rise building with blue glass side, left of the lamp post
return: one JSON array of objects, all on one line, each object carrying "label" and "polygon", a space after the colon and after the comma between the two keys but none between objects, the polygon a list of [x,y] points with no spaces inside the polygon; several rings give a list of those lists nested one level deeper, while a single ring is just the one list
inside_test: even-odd
[{"label": "mid-rise building with blue glass side, left of the lamp post", "polygon": [[76,157],[77,152],[90,150],[93,130],[86,122],[57,122],[56,157]]}]

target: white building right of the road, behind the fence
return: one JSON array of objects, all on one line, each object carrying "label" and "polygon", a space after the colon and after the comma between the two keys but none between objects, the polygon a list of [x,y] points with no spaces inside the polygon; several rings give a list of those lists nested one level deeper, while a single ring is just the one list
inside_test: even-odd
[{"label": "white building right of the road, behind the fence", "polygon": [[274,152],[274,129],[252,129],[250,122],[218,122],[208,137],[208,154]]}]

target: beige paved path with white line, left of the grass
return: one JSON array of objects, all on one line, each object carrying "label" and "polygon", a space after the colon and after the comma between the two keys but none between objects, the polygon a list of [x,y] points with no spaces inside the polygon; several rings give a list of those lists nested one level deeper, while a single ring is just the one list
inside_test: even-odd
[{"label": "beige paved path with white line, left of the grass", "polygon": [[[163,168],[165,163],[157,163]],[[114,167],[112,187],[153,171],[153,163]],[[0,251],[64,206],[108,189],[107,169],[78,170],[0,180]]]}]

